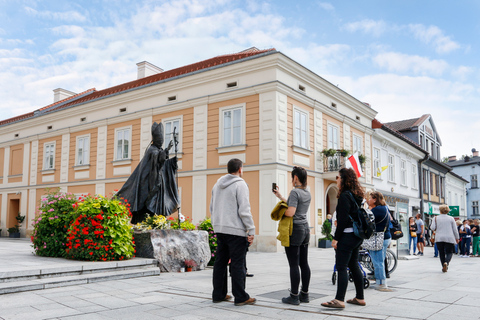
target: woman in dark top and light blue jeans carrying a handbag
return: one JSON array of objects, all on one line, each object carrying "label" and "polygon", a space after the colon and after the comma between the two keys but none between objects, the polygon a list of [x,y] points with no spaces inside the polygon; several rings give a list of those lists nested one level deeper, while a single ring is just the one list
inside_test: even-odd
[{"label": "woman in dark top and light blue jeans carrying a handbag", "polygon": [[372,257],[375,271],[376,286],[375,289],[383,292],[391,292],[387,286],[387,277],[385,274],[385,256],[387,248],[392,241],[390,235],[390,211],[385,203],[383,194],[373,191],[367,200],[375,215],[375,233],[363,241],[363,247],[368,250]]}]

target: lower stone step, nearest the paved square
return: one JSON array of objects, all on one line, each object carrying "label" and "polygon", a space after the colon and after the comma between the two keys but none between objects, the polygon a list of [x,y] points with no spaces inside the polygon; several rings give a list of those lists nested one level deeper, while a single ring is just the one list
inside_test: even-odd
[{"label": "lower stone step, nearest the paved square", "polygon": [[41,278],[36,280],[17,280],[0,283],[0,295],[14,292],[43,290],[49,288],[67,287],[88,283],[121,280],[160,275],[156,266],[139,267],[130,270],[109,270],[106,272],[86,273],[61,277]]}]

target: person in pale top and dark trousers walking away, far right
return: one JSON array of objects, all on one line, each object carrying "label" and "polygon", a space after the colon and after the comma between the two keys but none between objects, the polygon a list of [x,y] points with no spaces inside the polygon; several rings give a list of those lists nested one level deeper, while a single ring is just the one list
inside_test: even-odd
[{"label": "person in pale top and dark trousers walking away, far right", "polygon": [[435,231],[435,243],[442,264],[442,272],[447,272],[454,246],[460,238],[455,219],[447,215],[448,212],[450,212],[448,205],[440,205],[440,215],[436,216],[430,225],[430,229]]}]

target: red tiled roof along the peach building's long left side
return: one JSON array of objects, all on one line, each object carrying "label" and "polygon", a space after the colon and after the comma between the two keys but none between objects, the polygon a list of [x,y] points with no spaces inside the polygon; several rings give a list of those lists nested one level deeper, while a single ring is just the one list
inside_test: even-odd
[{"label": "red tiled roof along the peach building's long left side", "polygon": [[48,113],[48,112],[53,112],[57,110],[61,110],[63,108],[71,107],[77,104],[85,103],[88,101],[96,100],[96,99],[101,99],[104,97],[111,96],[113,94],[118,94],[123,91],[131,90],[134,88],[139,88],[145,85],[150,85],[150,84],[155,84],[156,82],[164,81],[170,78],[175,78],[179,76],[183,76],[189,73],[193,72],[198,72],[201,70],[206,70],[208,68],[212,67],[217,67],[222,64],[227,64],[231,63],[234,61],[239,61],[241,59],[257,56],[257,55],[263,55],[263,54],[271,54],[275,53],[277,50],[275,48],[272,49],[266,49],[266,50],[259,50],[255,47],[249,48],[247,50],[238,52],[238,53],[233,53],[233,54],[226,54],[226,55],[221,55],[217,57],[213,57],[207,60],[203,60],[200,62],[196,62],[190,65],[186,65],[180,68],[164,71],[158,74],[154,74],[145,78],[137,79],[134,81],[130,81],[118,86],[110,87],[104,90],[95,90],[95,89],[89,89],[85,92],[76,94],[74,96],[68,97],[66,99],[63,99],[61,101],[55,102],[53,104],[50,104],[48,106],[42,107],[35,112],[30,112],[26,113],[24,115],[16,116],[10,119],[6,119],[3,121],[0,121],[0,126],[17,122],[20,120],[25,120],[31,117],[34,117],[35,115],[38,114],[40,111],[42,114],[43,113]]}]

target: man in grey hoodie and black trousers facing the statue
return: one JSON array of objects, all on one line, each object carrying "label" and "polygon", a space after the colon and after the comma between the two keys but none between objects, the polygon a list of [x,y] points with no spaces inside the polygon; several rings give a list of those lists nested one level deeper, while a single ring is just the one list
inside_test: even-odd
[{"label": "man in grey hoodie and black trousers facing the statue", "polygon": [[248,186],[243,176],[243,163],[231,159],[228,174],[218,179],[212,189],[210,213],[217,235],[217,256],[213,266],[213,302],[230,300],[227,294],[227,266],[230,262],[232,294],[235,305],[254,304],[256,299],[245,292],[245,257],[253,242],[255,225],[250,212]]}]

